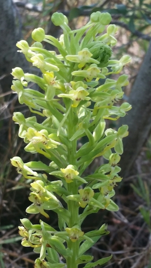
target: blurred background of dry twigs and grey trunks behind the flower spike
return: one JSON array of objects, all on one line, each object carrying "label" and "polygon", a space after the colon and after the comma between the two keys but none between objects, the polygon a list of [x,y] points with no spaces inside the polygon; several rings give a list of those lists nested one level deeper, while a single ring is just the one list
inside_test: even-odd
[{"label": "blurred background of dry twigs and grey trunks behind the flower spike", "polygon": [[[129,77],[124,87],[124,100],[133,109],[125,118],[108,122],[117,129],[128,124],[129,136],[124,138],[124,153],[121,157],[122,183],[116,188],[115,202],[118,212],[99,211],[84,222],[83,230],[90,231],[108,224],[110,234],[102,237],[91,249],[95,260],[113,254],[103,267],[150,268],[151,267],[151,3],[150,0],[0,0],[0,266],[2,268],[30,268],[37,257],[31,248],[21,246],[18,235],[20,218],[28,217],[32,223],[44,221],[41,215],[27,215],[30,182],[10,164],[10,158],[19,155],[24,162],[39,159],[25,153],[23,141],[18,138],[18,126],[12,120],[14,111],[30,116],[28,108],[20,105],[12,94],[12,68],[20,66],[24,72],[38,70],[30,66],[22,53],[17,52],[16,43],[25,39],[32,44],[31,33],[42,27],[56,38],[61,30],[51,23],[54,12],[62,12],[69,20],[71,29],[85,25],[91,13],[109,12],[111,24],[119,29],[114,57],[131,56],[131,62],[122,73]],[[46,49],[52,47],[43,44]],[[120,74],[122,74],[120,73]],[[119,75],[120,75],[119,74]],[[117,79],[117,75],[110,76]],[[31,84],[34,88],[34,84]],[[84,141],[83,141],[84,142]],[[100,158],[89,167],[93,172],[103,163]],[[51,224],[57,228],[57,217],[49,212]],[[70,267],[71,268],[71,267]]]}]

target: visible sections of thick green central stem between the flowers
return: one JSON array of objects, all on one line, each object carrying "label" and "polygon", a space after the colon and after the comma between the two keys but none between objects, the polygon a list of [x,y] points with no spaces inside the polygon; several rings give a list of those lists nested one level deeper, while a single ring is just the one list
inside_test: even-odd
[{"label": "visible sections of thick green central stem between the flowers", "polygon": [[[68,116],[68,164],[76,165],[77,159],[75,158],[76,150],[77,150],[77,141],[69,141],[69,139],[75,133],[75,127],[72,124],[73,115],[72,109]],[[67,184],[67,190],[70,192],[70,195],[77,195],[78,194],[78,185],[77,181],[73,180],[72,183]],[[79,225],[79,207],[77,206],[77,202],[68,201],[68,211],[70,213],[70,219],[68,227],[71,228],[74,225]],[[76,259],[79,255],[79,241],[72,242],[69,240],[67,246],[72,251],[72,256],[67,257],[66,259],[66,267],[67,268],[78,268],[78,264],[75,263]]]}]

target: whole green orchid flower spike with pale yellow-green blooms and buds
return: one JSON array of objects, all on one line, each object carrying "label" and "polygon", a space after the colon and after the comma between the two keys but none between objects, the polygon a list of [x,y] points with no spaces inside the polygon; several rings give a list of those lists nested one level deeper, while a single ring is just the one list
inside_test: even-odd
[{"label": "whole green orchid flower spike with pale yellow-green blooms and buds", "polygon": [[[111,22],[109,13],[97,11],[91,14],[90,22],[73,31],[63,14],[56,12],[51,20],[63,30],[59,39],[38,28],[32,33],[36,41],[32,46],[24,40],[17,43],[26,59],[40,69],[39,76],[24,73],[19,67],[12,70],[12,90],[18,94],[20,104],[38,115],[25,118],[21,112],[14,113],[19,137],[26,143],[25,151],[42,154],[47,164],[24,163],[19,156],[11,158],[11,163],[18,173],[33,180],[31,204],[26,212],[41,213],[49,219],[48,211],[53,210],[58,215],[60,231],[41,220],[33,225],[22,219],[19,233],[22,245],[39,253],[35,268],[78,268],[80,264],[90,268],[111,258],[92,263],[93,256],[84,254],[108,234],[107,227],[102,225],[99,230],[84,233],[81,225],[91,213],[118,210],[112,197],[114,187],[122,180],[118,163],[128,127],[106,129],[105,120],[115,121],[131,109],[128,103],[118,104],[123,97],[122,87],[128,84],[127,75],[122,74],[117,80],[109,76],[119,73],[130,57],[112,58],[117,27],[109,25],[104,33],[105,25]],[[44,49],[42,41],[53,45],[54,51]],[[28,85],[31,82],[37,84],[37,90]],[[43,120],[39,120],[40,116]],[[86,176],[85,170],[99,156],[107,163]],[[60,262],[59,256],[65,263]]]}]

